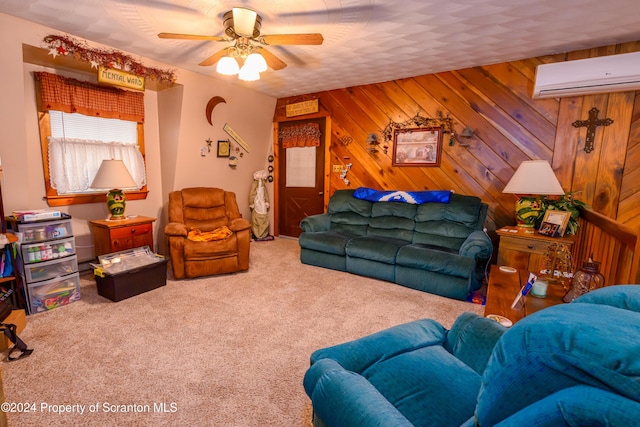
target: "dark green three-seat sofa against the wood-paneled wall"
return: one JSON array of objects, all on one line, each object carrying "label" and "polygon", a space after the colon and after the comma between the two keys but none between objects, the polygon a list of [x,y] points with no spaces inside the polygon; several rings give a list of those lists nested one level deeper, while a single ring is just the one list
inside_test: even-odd
[{"label": "dark green three-seat sofa against the wood-paneled wall", "polygon": [[354,191],[337,190],[326,213],[301,221],[302,263],[459,300],[480,288],[493,245],[478,197],[411,204],[362,200]]}]

